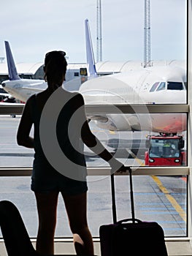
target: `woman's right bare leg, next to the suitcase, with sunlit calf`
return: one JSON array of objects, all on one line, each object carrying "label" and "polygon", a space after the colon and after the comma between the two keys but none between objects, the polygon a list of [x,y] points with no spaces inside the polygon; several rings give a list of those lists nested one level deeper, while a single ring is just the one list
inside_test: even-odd
[{"label": "woman's right bare leg, next to the suitcase, with sunlit calf", "polygon": [[93,239],[87,222],[87,193],[63,197],[77,255],[93,255]]}]

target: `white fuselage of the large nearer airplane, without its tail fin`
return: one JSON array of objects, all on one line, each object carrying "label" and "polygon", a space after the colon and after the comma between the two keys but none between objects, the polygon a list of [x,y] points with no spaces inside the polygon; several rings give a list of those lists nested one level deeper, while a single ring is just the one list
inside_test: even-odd
[{"label": "white fuselage of the large nearer airplane, without its tail fin", "polygon": [[[185,82],[183,68],[150,67],[88,80],[80,87],[80,93],[86,105],[143,104],[147,108],[147,104],[185,104]],[[95,120],[99,127],[111,130],[177,133],[186,129],[185,113],[107,113],[90,115],[89,118]]]}]

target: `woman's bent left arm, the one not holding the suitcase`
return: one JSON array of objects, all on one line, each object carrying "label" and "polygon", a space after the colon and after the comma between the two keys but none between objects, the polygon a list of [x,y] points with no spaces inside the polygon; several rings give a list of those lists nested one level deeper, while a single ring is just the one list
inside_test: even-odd
[{"label": "woman's bent left arm, the one not holding the suitcase", "polygon": [[17,141],[18,145],[25,146],[26,148],[34,148],[34,138],[29,136],[31,127],[33,124],[31,118],[31,98],[28,99],[23,110],[23,114],[20,118],[20,124],[18,127]]}]

